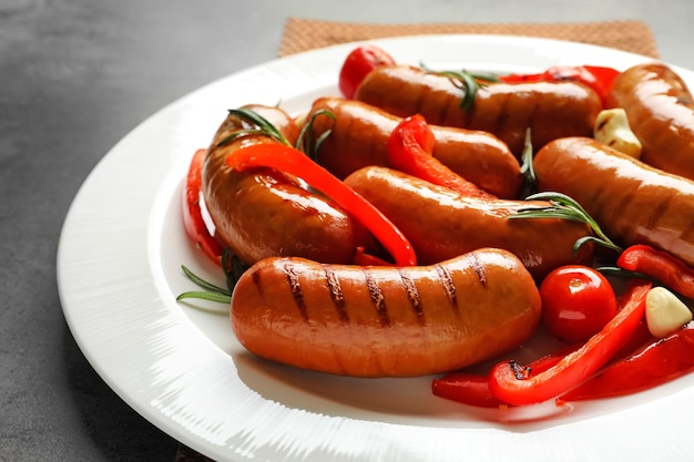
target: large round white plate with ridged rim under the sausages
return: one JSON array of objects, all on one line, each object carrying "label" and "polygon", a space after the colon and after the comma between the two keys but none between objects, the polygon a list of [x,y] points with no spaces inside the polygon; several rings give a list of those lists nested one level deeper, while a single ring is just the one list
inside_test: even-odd
[{"label": "large round white plate with ridged rim under the sausages", "polygon": [[[374,42],[399,62],[435,69],[625,69],[646,60],[492,35]],[[96,166],[70,209],[58,255],[64,315],[91,365],[139,413],[218,461],[686,459],[694,451],[694,407],[686,404],[694,402],[694,377],[573,408],[479,410],[432,397],[431,378],[338,378],[259,360],[236,342],[226,307],[175,301],[194,288],[181,265],[220,279],[181,225],[192,153],[207,146],[227,109],[280,102],[299,113],[316,96],[337,94],[337,72],[353,48],[303,53],[214,82],[154,114]]]}]

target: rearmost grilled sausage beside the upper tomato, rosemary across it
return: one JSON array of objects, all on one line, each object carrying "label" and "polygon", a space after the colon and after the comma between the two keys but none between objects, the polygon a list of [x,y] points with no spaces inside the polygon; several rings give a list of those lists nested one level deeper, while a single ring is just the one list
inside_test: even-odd
[{"label": "rearmost grilled sausage beside the upper tomato, rosemary across it", "polygon": [[371,71],[355,99],[398,116],[420,113],[436,125],[493,133],[520,156],[527,129],[535,150],[562,136],[590,136],[602,110],[600,96],[576,82],[493,83],[482,86],[472,110],[443,75],[407,65]]}]

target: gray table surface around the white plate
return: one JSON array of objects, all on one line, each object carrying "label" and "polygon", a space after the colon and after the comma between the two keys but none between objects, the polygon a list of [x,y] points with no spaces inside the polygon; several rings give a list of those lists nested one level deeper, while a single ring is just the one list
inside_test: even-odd
[{"label": "gray table surface around the white plate", "polygon": [[365,22],[639,19],[694,69],[691,0],[0,0],[0,461],[172,461],[177,442],[76,347],[55,281],[78,188],[171,101],[273,59],[288,17]]}]

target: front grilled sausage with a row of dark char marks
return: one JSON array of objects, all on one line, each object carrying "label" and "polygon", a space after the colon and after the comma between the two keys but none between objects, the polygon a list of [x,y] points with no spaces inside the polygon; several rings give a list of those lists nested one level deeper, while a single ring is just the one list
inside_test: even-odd
[{"label": "front grilled sausage with a row of dark char marks", "polygon": [[519,347],[540,296],[512,254],[478,249],[432,266],[257,263],[238,280],[232,326],[249,351],[335,374],[446,372]]}]

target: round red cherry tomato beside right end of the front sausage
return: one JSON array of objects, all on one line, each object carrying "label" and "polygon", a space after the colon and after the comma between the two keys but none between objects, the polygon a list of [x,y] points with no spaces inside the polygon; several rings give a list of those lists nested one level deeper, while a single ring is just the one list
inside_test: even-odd
[{"label": "round red cherry tomato beside right end of the front sausage", "polygon": [[554,269],[540,285],[540,297],[544,327],[568,342],[588,340],[616,315],[614,289],[586,266]]}]

